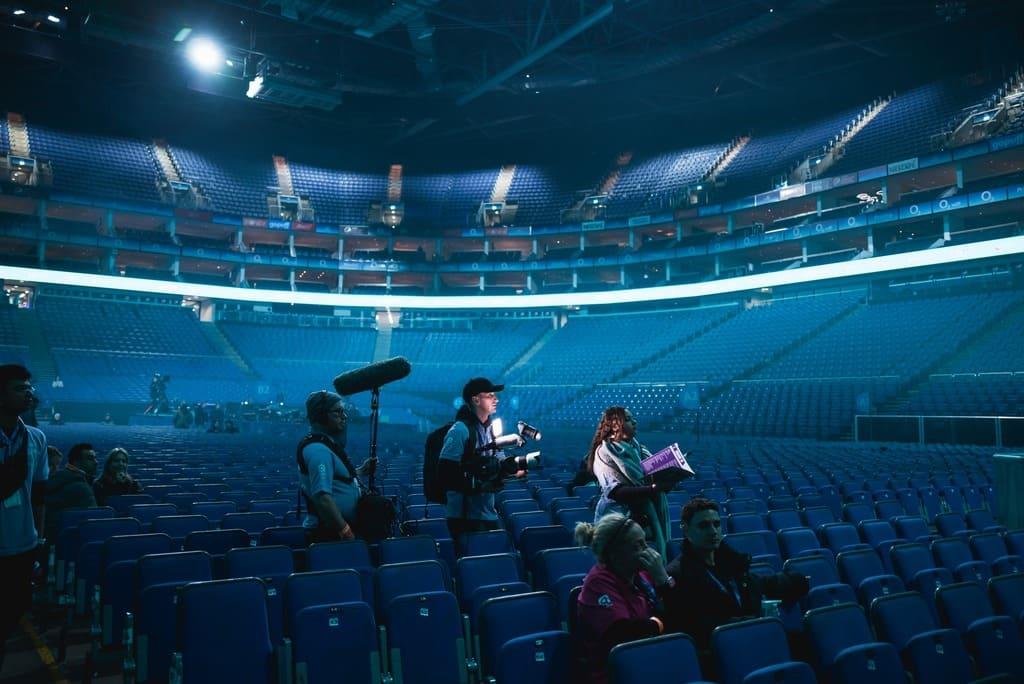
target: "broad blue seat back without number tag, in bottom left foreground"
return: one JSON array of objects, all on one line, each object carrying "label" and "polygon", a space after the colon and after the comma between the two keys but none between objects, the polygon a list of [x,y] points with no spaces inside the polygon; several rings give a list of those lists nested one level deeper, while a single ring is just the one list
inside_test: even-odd
[{"label": "broad blue seat back without number tag, in bottom left foreground", "polygon": [[270,682],[273,647],[266,588],[255,578],[185,585],[178,590],[180,681]]}]

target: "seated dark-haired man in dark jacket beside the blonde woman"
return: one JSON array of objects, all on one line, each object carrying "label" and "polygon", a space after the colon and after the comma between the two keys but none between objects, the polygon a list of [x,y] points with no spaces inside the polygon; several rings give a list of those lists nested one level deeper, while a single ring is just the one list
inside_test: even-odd
[{"label": "seated dark-haired man in dark jacket beside the blonde woman", "polygon": [[669,631],[693,637],[703,654],[711,648],[716,627],[760,617],[764,598],[791,602],[809,591],[803,575],[752,574],[751,557],[722,542],[715,502],[693,499],[683,508],[682,523],[686,538],[682,552],[666,568],[676,581],[666,598]]}]

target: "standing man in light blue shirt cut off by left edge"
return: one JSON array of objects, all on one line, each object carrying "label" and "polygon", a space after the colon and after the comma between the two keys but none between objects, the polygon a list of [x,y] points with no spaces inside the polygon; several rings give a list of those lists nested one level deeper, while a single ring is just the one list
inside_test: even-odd
[{"label": "standing man in light blue shirt cut off by left edge", "polygon": [[32,574],[49,475],[46,436],[20,415],[34,399],[24,366],[0,366],[0,673],[7,640],[32,607]]}]

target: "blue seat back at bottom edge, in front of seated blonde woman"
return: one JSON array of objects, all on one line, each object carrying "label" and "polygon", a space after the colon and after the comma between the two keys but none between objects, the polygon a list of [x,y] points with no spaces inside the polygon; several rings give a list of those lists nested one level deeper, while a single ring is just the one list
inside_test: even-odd
[{"label": "blue seat back at bottom edge, in front of seated blonde woman", "polygon": [[647,684],[670,672],[679,682],[702,679],[696,646],[685,634],[630,641],[608,654],[609,680],[615,684]]}]

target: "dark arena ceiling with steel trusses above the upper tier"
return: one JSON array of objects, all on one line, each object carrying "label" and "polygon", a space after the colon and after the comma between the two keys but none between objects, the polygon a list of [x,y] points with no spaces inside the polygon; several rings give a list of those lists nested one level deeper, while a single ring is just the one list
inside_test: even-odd
[{"label": "dark arena ceiling with steel trusses above the upper tier", "polygon": [[[14,15],[29,7],[27,14]],[[224,125],[296,149],[455,164],[685,144],[1018,63],[1004,0],[0,0],[3,109],[172,139]],[[67,9],[65,9],[67,8]],[[34,12],[62,23],[30,20]],[[201,75],[190,36],[231,69]],[[249,60],[245,57],[250,57]],[[259,59],[333,109],[256,102]],[[227,73],[231,72],[232,73]],[[7,78],[10,77],[10,78]],[[325,144],[327,143],[327,144]],[[282,151],[281,142],[276,142]]]}]

